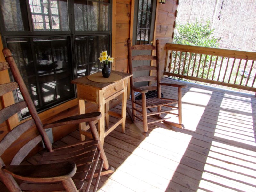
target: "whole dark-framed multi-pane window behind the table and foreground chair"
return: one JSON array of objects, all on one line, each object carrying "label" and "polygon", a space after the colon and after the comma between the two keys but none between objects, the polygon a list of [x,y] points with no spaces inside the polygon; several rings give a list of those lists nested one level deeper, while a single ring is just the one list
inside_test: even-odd
[{"label": "whole dark-framed multi-pane window behind the table and foreground chair", "polygon": [[[71,80],[101,70],[100,52],[111,52],[109,0],[0,0],[0,5],[4,46],[37,111],[75,98]],[[23,100],[19,92],[15,98]],[[21,118],[27,113],[24,109]]]}]

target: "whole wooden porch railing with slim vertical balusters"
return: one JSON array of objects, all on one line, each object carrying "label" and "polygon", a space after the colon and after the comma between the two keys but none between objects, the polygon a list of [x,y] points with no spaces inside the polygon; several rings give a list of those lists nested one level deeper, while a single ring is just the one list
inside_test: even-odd
[{"label": "whole wooden porch railing with slim vertical balusters", "polygon": [[256,53],[166,44],[164,75],[256,92]]}]

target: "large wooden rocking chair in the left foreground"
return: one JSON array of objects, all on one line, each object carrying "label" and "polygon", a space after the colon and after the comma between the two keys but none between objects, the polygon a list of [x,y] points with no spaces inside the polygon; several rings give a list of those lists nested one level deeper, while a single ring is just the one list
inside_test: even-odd
[{"label": "large wooden rocking chair in the left foreground", "polygon": [[[96,126],[93,123],[101,117],[101,113],[95,112],[72,116],[43,126],[10,50],[3,49],[3,53],[7,62],[0,63],[0,71],[10,68],[16,82],[1,84],[0,96],[19,88],[24,101],[3,108],[0,111],[0,124],[26,107],[28,107],[32,118],[19,124],[1,140],[0,156],[29,129],[36,126],[40,135],[23,145],[13,157],[10,164],[5,165],[2,158],[0,158],[0,180],[9,191],[15,192],[63,190],[75,192],[82,189],[85,183],[84,180],[87,180],[85,191],[89,191],[92,179],[95,176],[97,180],[93,191],[96,191],[100,175],[114,172],[113,168],[108,165],[108,160],[99,141]],[[44,129],[81,122],[89,122],[93,136],[92,140],[82,141],[60,148],[52,148]],[[20,165],[28,153],[42,140],[47,151],[42,154],[37,165]],[[99,170],[96,171],[98,161],[100,162],[100,166],[98,168]]]}]

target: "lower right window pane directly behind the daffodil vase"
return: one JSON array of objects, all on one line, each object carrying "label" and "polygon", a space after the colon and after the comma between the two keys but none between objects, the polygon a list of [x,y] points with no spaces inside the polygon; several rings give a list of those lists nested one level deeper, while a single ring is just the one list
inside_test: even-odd
[{"label": "lower right window pane directly behind the daffodil vase", "polygon": [[100,71],[103,64],[98,59],[102,51],[109,50],[109,35],[76,36],[76,62],[78,77]]}]

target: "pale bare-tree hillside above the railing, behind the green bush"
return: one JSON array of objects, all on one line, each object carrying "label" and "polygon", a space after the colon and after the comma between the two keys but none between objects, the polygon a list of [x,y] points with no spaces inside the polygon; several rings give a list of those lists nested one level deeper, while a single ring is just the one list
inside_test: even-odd
[{"label": "pale bare-tree hillside above the railing, behind the green bush", "polygon": [[210,20],[219,48],[256,52],[255,0],[180,0],[176,22],[196,20]]}]

